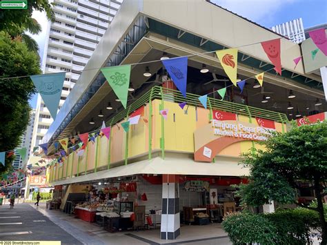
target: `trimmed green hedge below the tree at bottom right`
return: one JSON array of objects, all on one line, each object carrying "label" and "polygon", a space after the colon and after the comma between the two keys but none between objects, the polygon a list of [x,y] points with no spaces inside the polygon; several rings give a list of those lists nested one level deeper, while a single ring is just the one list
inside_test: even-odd
[{"label": "trimmed green hedge below the tree at bottom right", "polygon": [[248,212],[228,215],[222,226],[233,244],[307,244],[310,232],[319,228],[318,213],[306,208],[275,213]]}]

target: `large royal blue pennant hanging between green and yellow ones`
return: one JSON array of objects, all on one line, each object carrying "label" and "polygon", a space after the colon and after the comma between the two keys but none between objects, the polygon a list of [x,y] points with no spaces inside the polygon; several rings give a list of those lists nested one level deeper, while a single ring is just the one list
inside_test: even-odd
[{"label": "large royal blue pennant hanging between green and yellow ones", "polygon": [[162,60],[175,86],[186,97],[186,81],[188,77],[188,57],[177,57]]}]

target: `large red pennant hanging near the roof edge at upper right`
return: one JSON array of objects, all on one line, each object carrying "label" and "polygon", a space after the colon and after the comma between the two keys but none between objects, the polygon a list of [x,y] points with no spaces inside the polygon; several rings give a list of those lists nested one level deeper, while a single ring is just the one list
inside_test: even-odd
[{"label": "large red pennant hanging near the roof edge at upper right", "polygon": [[281,75],[281,39],[273,39],[261,42],[264,52],[275,66],[275,70]]}]

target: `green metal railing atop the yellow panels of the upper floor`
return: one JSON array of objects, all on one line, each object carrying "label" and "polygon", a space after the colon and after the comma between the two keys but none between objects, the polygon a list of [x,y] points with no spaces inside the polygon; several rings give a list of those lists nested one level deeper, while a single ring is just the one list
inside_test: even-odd
[{"label": "green metal railing atop the yellow panels of the upper floor", "polygon": [[[145,92],[139,99],[130,104],[126,109],[121,110],[109,121],[107,121],[107,126],[112,126],[117,124],[119,121],[126,119],[130,112],[137,110],[139,107],[148,104],[154,99],[161,99],[166,101],[173,101],[175,103],[186,102],[188,106],[203,107],[199,101],[199,95],[193,95],[191,93],[186,93],[186,98],[181,95],[178,90],[172,90],[170,88],[162,88],[161,86],[154,86],[147,92]],[[212,110],[223,110],[226,112],[236,113],[238,115],[244,115],[246,117],[260,117],[263,119],[270,119],[280,123],[287,123],[288,118],[284,113],[274,112],[271,110],[265,110],[261,108],[255,108],[252,106],[246,106],[243,104],[237,104],[229,101],[221,101],[219,99],[214,99],[208,97],[208,107],[210,111]],[[212,117],[212,113],[210,113]],[[211,119],[211,118],[210,118]]]}]

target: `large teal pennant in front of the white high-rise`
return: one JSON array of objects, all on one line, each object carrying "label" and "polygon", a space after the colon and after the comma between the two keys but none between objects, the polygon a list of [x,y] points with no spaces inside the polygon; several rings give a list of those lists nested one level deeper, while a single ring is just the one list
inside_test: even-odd
[{"label": "large teal pennant in front of the white high-rise", "polygon": [[65,75],[66,72],[30,76],[53,119],[57,116]]}]

